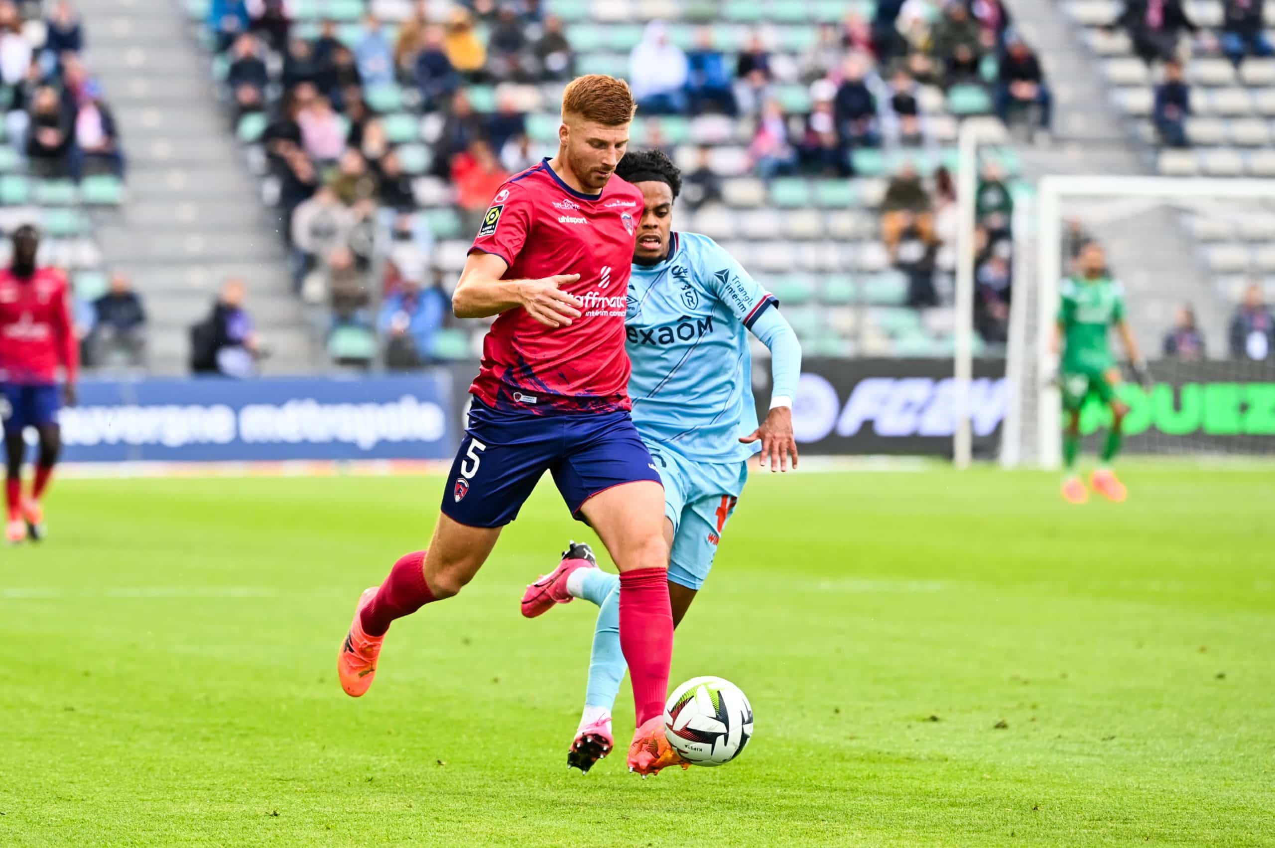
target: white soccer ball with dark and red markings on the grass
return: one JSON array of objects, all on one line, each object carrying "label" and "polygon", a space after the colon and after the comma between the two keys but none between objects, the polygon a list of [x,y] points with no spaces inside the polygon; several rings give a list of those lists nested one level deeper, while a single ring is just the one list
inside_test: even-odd
[{"label": "white soccer ball with dark and red markings on the grass", "polygon": [[729,680],[692,677],[664,704],[664,736],[692,765],[722,765],[752,738],[752,705]]}]

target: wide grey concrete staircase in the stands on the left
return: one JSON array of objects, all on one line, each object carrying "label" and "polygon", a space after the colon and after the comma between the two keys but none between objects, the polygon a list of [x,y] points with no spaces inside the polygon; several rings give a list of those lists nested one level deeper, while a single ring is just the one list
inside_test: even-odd
[{"label": "wide grey concrete staircase in the stands on the left", "polygon": [[266,373],[314,371],[314,339],[292,294],[273,220],[228,132],[172,0],[83,0],[88,62],[115,110],[129,159],[127,202],[97,236],[133,278],[150,318],[156,373],[186,373],[189,326],[227,276],[270,345]]}]

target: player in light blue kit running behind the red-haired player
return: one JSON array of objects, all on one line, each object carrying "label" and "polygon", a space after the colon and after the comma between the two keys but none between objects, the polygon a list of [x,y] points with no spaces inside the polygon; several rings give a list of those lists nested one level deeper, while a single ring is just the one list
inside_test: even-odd
[{"label": "player in light blue kit running behind the red-haired player", "polygon": [[[711,238],[672,232],[681,173],[658,150],[629,153],[616,173],[638,186],[644,208],[634,247],[625,318],[632,419],[664,484],[664,536],[673,624],[704,584],[748,476],[797,467],[792,399],[801,373],[797,335],[779,302]],[[623,201],[616,201],[623,202]],[[639,215],[640,213],[640,215]],[[770,349],[770,411],[757,423],[748,334]],[[552,573],[527,588],[523,615],[583,597],[597,604],[584,714],[567,765],[588,772],[611,753],[611,708],[625,676],[620,578],[598,569],[588,545],[571,542]],[[659,767],[681,764],[660,745]],[[654,769],[654,770],[658,770]]]}]

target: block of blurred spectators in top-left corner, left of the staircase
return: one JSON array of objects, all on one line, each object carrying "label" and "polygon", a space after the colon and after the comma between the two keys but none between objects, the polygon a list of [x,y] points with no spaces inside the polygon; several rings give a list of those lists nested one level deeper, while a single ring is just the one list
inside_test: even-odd
[{"label": "block of blurred spectators in top-left corner, left of the staircase", "polygon": [[124,176],[119,130],[101,84],[84,66],[84,27],[59,0],[48,17],[24,18],[23,5],[0,0],[0,108],[5,138],[33,176]]}]

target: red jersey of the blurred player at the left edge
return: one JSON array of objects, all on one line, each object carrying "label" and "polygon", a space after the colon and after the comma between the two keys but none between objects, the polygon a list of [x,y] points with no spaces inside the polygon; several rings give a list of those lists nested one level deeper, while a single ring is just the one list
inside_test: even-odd
[{"label": "red jersey of the blurred player at the left edge", "polygon": [[37,269],[29,279],[0,270],[0,381],[55,383],[61,365],[74,382],[79,341],[68,290],[57,269]]}]

